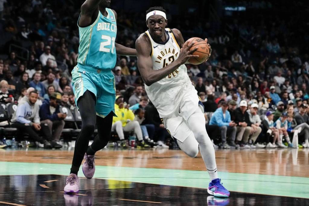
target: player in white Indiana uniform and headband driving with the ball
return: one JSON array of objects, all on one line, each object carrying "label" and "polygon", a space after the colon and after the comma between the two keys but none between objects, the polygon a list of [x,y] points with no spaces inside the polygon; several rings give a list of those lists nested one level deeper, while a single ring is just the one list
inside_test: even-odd
[{"label": "player in white Indiana uniform and headband driving with the ball", "polygon": [[165,28],[167,19],[162,7],[146,11],[146,25],[148,30],[138,37],[135,47],[147,95],[182,151],[196,157],[200,147],[210,175],[208,193],[228,197],[230,192],[218,178],[214,147],[205,128],[204,108],[184,65],[189,58],[198,57],[192,55],[197,48],[189,51],[195,42],[188,45],[178,29]]}]

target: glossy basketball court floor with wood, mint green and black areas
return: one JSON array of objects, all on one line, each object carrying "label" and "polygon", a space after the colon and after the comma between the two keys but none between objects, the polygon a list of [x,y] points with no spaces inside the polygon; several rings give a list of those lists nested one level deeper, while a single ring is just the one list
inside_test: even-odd
[{"label": "glossy basketball court floor with wood, mint green and black areas", "polygon": [[93,179],[63,193],[73,151],[0,149],[0,205],[309,205],[309,148],[216,150],[229,198],[207,193],[201,155],[112,150],[96,155]]}]

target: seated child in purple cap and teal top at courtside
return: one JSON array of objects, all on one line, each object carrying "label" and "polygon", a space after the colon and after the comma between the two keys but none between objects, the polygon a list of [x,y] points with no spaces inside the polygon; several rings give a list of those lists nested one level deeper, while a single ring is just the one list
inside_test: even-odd
[{"label": "seated child in purple cap and teal top at courtside", "polygon": [[[266,136],[266,148],[276,148],[276,140],[279,139],[279,131],[274,127],[273,123],[273,112],[268,111],[263,120],[263,128]],[[270,137],[273,137],[272,142],[270,142]]]}]

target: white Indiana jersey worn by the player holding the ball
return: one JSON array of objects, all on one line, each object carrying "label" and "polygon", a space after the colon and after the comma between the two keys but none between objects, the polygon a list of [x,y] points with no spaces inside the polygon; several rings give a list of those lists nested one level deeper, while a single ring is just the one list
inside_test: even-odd
[{"label": "white Indiana jersey worn by the player holding the ball", "polygon": [[[148,30],[145,32],[151,41],[150,56],[154,70],[166,67],[180,54],[180,46],[171,29],[166,28],[165,32],[167,39],[160,43],[151,38]],[[161,118],[170,117],[175,111],[178,111],[180,102],[188,94],[193,95],[193,99],[197,100],[196,104],[198,103],[197,91],[189,79],[187,67],[184,64],[158,82],[150,86],[145,84],[145,90],[150,101],[158,109]]]}]

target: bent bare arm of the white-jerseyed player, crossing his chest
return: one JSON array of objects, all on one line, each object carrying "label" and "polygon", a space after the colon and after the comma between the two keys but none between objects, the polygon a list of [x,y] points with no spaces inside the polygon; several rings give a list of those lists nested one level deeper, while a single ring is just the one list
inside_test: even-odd
[{"label": "bent bare arm of the white-jerseyed player, crossing his chest", "polygon": [[150,57],[150,51],[151,51],[151,43],[149,38],[146,36],[146,34],[142,34],[138,37],[138,39],[135,42],[135,48],[137,51],[137,63],[138,63],[138,70],[141,73],[142,79],[144,80],[145,84],[147,86],[150,86],[151,84],[163,79],[167,75],[169,75],[171,72],[175,71],[180,65],[184,64],[189,58],[191,57],[198,57],[196,55],[192,55],[196,49],[193,49],[192,51],[189,51],[191,46],[194,44],[192,42],[190,45],[187,43],[183,45],[183,48],[180,49],[179,57],[166,67],[163,67],[162,69],[153,70],[153,63],[152,59]]}]

